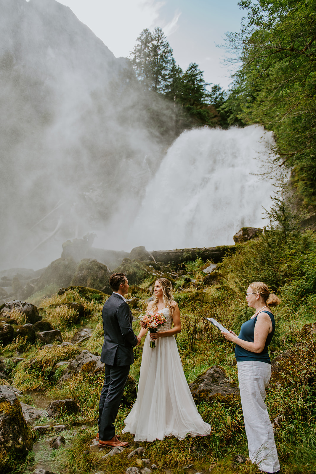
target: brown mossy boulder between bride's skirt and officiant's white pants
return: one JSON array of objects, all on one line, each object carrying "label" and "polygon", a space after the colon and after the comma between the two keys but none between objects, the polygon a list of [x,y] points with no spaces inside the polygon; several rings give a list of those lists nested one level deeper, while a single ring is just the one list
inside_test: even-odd
[{"label": "brown mossy boulder between bride's skirt and officiant's white pants", "polygon": [[196,403],[210,401],[215,395],[238,394],[238,386],[229,382],[223,369],[213,365],[206,372],[189,384],[192,397]]}]

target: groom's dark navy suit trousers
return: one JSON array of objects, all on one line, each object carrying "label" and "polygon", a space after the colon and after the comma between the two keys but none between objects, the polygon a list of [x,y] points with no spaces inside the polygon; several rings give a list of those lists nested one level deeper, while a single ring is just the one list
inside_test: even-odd
[{"label": "groom's dark navy suit trousers", "polygon": [[114,421],[122,400],[130,365],[105,364],[105,378],[99,401],[99,439],[108,441],[115,435]]}]

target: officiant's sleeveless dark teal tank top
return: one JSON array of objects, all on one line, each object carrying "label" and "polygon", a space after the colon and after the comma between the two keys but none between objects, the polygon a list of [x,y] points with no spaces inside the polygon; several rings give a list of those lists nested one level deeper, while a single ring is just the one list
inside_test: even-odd
[{"label": "officiant's sleeveless dark teal tank top", "polygon": [[[245,360],[257,360],[259,362],[266,362],[267,364],[271,364],[271,359],[268,352],[268,346],[271,343],[274,331],[275,331],[275,320],[274,316],[270,311],[260,311],[261,313],[267,313],[270,316],[271,323],[272,323],[272,331],[268,334],[267,340],[265,341],[265,346],[262,352],[259,354],[251,351],[247,351],[243,349],[243,347],[238,346],[236,344],[235,347],[235,357],[237,362],[244,362]],[[239,339],[243,339],[243,341],[253,342],[254,339],[254,327],[257,321],[257,317],[253,319],[249,319],[240,328],[240,333],[238,335]]]}]

